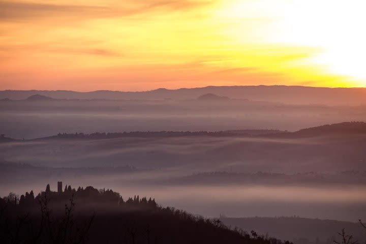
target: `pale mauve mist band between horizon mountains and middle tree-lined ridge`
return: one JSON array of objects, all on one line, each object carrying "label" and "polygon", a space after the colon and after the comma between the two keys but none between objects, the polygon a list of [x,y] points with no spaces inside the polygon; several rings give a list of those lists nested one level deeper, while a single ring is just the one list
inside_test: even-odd
[{"label": "pale mauve mist band between horizon mountains and middle tree-lined ridge", "polygon": [[364,121],[365,111],[366,105],[297,105],[244,99],[113,101],[36,97],[0,101],[0,127],[4,134],[17,139],[65,132],[296,131],[343,121]]}]

